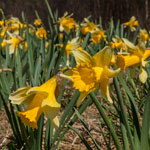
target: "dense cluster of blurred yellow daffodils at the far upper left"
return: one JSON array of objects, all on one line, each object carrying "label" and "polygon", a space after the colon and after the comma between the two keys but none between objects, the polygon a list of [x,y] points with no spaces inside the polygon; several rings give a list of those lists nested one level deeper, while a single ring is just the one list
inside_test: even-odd
[{"label": "dense cluster of blurred yellow daffodils at the far upper left", "polygon": [[[36,35],[38,39],[47,39],[47,31],[42,26],[42,21],[40,19],[34,20],[34,26],[29,24],[27,29],[27,24],[22,23],[16,17],[10,17],[7,20],[0,20],[0,37],[1,43],[0,47],[4,51],[6,46],[9,47],[9,54],[16,54],[19,49],[28,50],[28,43],[26,41],[27,31],[32,36]],[[47,44],[47,41],[45,42]]]}]

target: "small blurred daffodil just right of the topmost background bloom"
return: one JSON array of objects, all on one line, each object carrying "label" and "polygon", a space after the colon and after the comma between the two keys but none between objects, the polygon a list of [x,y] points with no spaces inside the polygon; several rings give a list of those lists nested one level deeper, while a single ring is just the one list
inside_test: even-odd
[{"label": "small blurred daffodil just right of the topmost background bloom", "polygon": [[98,25],[90,22],[87,18],[84,19],[85,23],[81,24],[81,33],[86,35],[88,32],[92,32],[97,29]]}]

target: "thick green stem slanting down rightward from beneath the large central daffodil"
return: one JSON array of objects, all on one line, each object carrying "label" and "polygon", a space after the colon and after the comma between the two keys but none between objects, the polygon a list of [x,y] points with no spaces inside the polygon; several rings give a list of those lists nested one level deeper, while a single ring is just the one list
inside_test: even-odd
[{"label": "thick green stem slanting down rightward from beneath the large central daffodil", "polygon": [[110,122],[108,116],[107,116],[107,115],[105,114],[105,112],[103,111],[103,108],[102,108],[102,106],[101,106],[99,100],[96,98],[96,96],[94,95],[94,93],[90,93],[90,96],[91,96],[91,98],[92,98],[92,100],[93,100],[95,106],[97,107],[99,113],[101,114],[102,118],[104,119],[104,121],[105,121],[105,123],[106,123],[108,129],[110,130],[110,133],[111,133],[111,135],[112,135],[112,137],[113,137],[113,140],[114,140],[114,142],[115,142],[115,145],[116,145],[117,150],[121,150],[122,147],[121,147],[121,145],[120,145],[120,142],[119,142],[119,140],[118,140],[118,137],[117,137],[117,135],[116,135],[116,132],[115,132],[115,130],[114,130],[113,126],[112,126],[112,123]]}]

